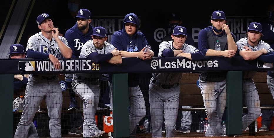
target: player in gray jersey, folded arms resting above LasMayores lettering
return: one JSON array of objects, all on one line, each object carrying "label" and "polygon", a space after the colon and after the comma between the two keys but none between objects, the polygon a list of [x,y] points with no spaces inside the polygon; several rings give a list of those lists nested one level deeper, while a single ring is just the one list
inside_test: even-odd
[{"label": "player in gray jersey, folded arms resting above LasMayores lettering", "polygon": [[[201,61],[204,55],[194,46],[185,43],[186,28],[176,26],[171,35],[172,41],[159,45],[158,57],[185,57]],[[149,85],[149,104],[151,112],[152,137],[163,137],[163,112],[166,120],[166,137],[175,137],[176,120],[179,107],[182,73],[152,73]]]}]

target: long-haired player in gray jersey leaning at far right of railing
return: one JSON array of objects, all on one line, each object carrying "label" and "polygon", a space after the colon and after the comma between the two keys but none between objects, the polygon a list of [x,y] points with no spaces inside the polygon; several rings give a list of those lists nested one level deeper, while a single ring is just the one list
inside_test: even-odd
[{"label": "long-haired player in gray jersey leaning at far right of railing", "polygon": [[[262,36],[262,25],[252,22],[248,26],[245,38],[237,41],[239,54],[245,60],[258,60],[265,63],[274,63],[274,51],[268,43],[260,40]],[[261,113],[260,100],[257,88],[253,82],[256,71],[243,72],[243,104],[247,107],[248,113],[242,117],[242,131],[244,131]]]}]

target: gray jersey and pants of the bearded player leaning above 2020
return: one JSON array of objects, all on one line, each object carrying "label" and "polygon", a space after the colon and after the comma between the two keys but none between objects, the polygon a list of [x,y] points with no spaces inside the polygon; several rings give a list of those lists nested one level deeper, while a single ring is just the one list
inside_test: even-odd
[{"label": "gray jersey and pants of the bearded player leaning above 2020", "polygon": [[[98,49],[93,45],[93,40],[87,41],[81,50],[79,58],[88,58],[88,55],[92,52],[98,54],[107,54],[114,50],[114,46],[105,42],[102,49]],[[95,121],[95,113],[99,102],[100,90],[97,80],[100,74],[73,74],[72,88],[76,95],[78,95],[83,101],[83,137],[90,137],[91,132],[97,128]],[[79,78],[81,77],[81,78]],[[87,80],[91,78],[90,80]]]}]

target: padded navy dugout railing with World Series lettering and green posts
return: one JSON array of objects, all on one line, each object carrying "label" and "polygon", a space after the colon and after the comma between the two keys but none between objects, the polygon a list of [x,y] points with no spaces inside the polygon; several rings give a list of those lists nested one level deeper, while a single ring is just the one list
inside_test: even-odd
[{"label": "padded navy dugout railing with World Series lettering and green posts", "polygon": [[[13,74],[68,74],[68,73],[113,73],[113,131],[114,137],[129,137],[128,128],[128,74],[157,72],[227,72],[227,135],[239,135],[242,118],[242,71],[268,71],[273,65],[264,65],[257,60],[245,61],[242,57],[205,57],[203,61],[191,61],[183,57],[158,58],[141,60],[139,58],[123,58],[120,65],[109,63],[93,63],[86,58],[59,59],[60,70],[55,70],[49,60],[40,59],[0,59],[0,96],[1,121],[0,133],[3,137],[13,137]],[[25,71],[25,63],[34,70]]]}]

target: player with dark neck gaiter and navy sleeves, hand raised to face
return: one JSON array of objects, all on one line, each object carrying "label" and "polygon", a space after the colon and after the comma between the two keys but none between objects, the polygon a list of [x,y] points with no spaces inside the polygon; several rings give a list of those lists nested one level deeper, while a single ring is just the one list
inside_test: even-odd
[{"label": "player with dark neck gaiter and navy sleeves, hand raised to face", "polygon": [[[236,37],[230,32],[223,11],[214,11],[211,16],[212,26],[202,29],[198,34],[198,49],[205,56],[224,56],[231,58],[237,51]],[[215,49],[216,41],[220,50]],[[201,72],[199,85],[203,96],[208,128],[205,137],[221,136],[221,122],[226,105],[226,71]]]}]

